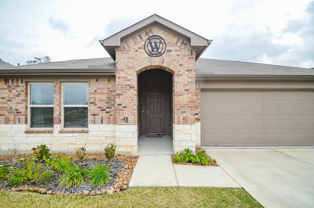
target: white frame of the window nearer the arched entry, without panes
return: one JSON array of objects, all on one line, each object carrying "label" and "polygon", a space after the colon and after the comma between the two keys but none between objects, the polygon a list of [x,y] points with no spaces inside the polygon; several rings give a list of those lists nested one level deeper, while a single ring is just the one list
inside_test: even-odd
[{"label": "white frame of the window nearer the arched entry, without panes", "polygon": [[[76,105],[70,105],[70,104],[63,104],[63,95],[64,95],[64,84],[87,84],[87,104],[76,104]],[[61,125],[62,125],[62,129],[64,130],[87,130],[88,129],[88,113],[89,113],[89,109],[88,109],[88,82],[62,82],[61,83]],[[87,107],[87,127],[84,128],[66,128],[64,127],[64,107]]]}]

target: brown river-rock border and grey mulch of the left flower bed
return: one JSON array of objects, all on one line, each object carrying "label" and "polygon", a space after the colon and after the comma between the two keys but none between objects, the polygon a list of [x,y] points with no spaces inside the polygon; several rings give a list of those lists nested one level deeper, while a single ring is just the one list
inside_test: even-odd
[{"label": "brown river-rock border and grey mulch of the left flower bed", "polygon": [[[59,156],[62,153],[58,154]],[[75,155],[71,155],[72,159],[75,159]],[[33,158],[32,155],[18,155],[15,158]],[[13,156],[0,156],[0,163],[12,162]],[[81,161],[75,161],[75,164],[82,165],[82,163],[88,163],[92,166],[96,163],[107,164],[112,171],[111,175],[114,177],[103,187],[93,187],[88,182],[84,182],[76,187],[67,189],[66,187],[60,187],[58,178],[60,176],[54,176],[50,183],[46,185],[30,185],[22,184],[20,186],[14,186],[0,182],[0,193],[11,191],[32,191],[47,195],[60,195],[60,196],[97,196],[102,194],[112,194],[114,192],[120,192],[121,190],[128,189],[131,175],[135,168],[138,156],[135,155],[121,155],[116,154],[112,160],[107,160],[104,153],[88,153]],[[86,165],[86,164],[85,164]],[[34,187],[32,187],[34,186]]]}]

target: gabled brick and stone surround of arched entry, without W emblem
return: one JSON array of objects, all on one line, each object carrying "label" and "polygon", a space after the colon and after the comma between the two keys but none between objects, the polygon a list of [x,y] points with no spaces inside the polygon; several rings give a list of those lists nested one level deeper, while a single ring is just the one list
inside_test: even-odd
[{"label": "gabled brick and stone surround of arched entry, without W emblem", "polygon": [[[162,56],[151,57],[145,52],[144,42],[151,35],[162,36],[166,41],[167,48]],[[137,75],[150,69],[166,70],[173,74],[173,150],[191,148],[195,151],[195,51],[187,50],[187,42],[157,26],[122,44],[123,50],[116,51],[117,128],[137,125]],[[117,135],[117,146],[124,149],[118,141],[128,140],[132,153],[136,153],[137,128],[132,138],[130,132],[128,135],[128,138]]]}]

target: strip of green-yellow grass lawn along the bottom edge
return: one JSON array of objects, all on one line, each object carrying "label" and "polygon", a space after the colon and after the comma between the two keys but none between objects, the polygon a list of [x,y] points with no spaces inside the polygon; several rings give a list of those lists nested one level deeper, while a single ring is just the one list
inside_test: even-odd
[{"label": "strip of green-yellow grass lawn along the bottom edge", "polygon": [[101,196],[55,196],[33,192],[0,194],[1,208],[262,208],[240,188],[137,187]]}]

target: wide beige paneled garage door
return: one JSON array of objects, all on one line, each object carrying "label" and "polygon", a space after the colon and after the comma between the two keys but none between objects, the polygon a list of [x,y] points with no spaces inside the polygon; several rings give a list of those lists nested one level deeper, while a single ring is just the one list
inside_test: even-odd
[{"label": "wide beige paneled garage door", "polygon": [[314,91],[202,90],[201,145],[314,145]]}]

